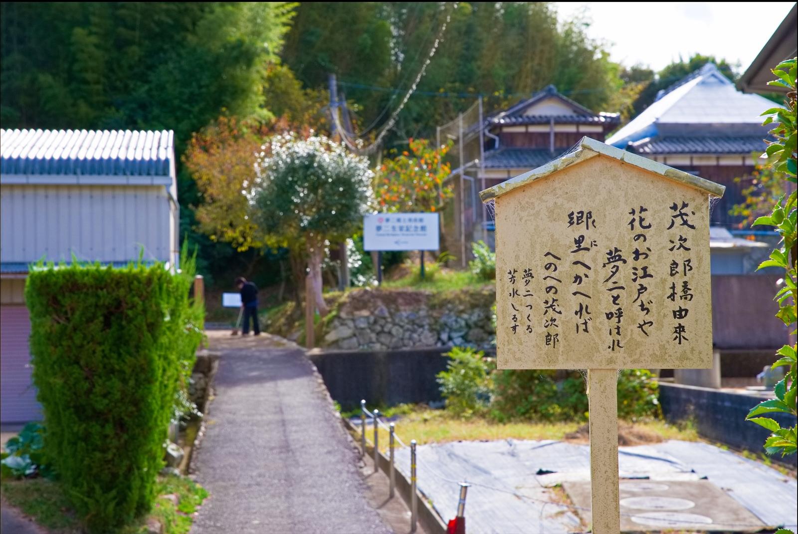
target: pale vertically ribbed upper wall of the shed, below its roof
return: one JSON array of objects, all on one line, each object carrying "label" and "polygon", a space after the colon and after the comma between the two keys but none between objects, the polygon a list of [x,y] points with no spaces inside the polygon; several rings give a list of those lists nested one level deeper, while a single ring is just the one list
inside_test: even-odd
[{"label": "pale vertically ribbed upper wall of the shed, below its roof", "polygon": [[0,187],[4,263],[77,259],[171,260],[170,210],[163,186]]}]

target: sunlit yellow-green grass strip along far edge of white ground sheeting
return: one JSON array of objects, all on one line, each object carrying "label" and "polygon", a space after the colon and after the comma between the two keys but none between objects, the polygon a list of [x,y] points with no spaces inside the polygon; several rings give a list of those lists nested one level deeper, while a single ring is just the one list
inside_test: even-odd
[{"label": "sunlit yellow-green grass strip along far edge of white ground sheeting", "polygon": [[[453,416],[443,409],[417,407],[409,409],[409,405],[397,406],[399,413],[390,413],[386,409],[385,417],[400,417],[394,421],[397,437],[406,444],[414,439],[418,445],[425,443],[446,443],[449,441],[495,441],[505,439],[516,440],[563,440],[566,434],[575,433],[583,423],[580,422],[545,422],[545,421],[511,421],[499,423],[486,417],[461,418]],[[360,410],[342,413],[344,417],[357,417]],[[382,411],[381,411],[382,414]],[[662,440],[698,441],[695,429],[681,429],[666,421],[638,421],[634,428],[643,433],[652,433]],[[369,441],[373,438],[372,426],[366,429]],[[388,448],[388,431],[379,428],[380,449]]]}]

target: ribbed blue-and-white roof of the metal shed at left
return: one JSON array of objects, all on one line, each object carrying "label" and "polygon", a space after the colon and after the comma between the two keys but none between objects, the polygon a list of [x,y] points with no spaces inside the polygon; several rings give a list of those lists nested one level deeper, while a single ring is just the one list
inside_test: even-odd
[{"label": "ribbed blue-and-white roof of the metal shed at left", "polygon": [[0,134],[4,175],[171,176],[174,133],[10,130]]}]

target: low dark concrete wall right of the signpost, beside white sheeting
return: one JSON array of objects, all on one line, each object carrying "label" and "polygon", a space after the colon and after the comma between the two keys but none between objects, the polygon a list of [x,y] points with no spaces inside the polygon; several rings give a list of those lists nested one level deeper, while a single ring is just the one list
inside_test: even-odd
[{"label": "low dark concrete wall right of the signpost, beside white sheeting", "polygon": [[[745,416],[764,400],[766,397],[759,395],[662,382],[659,385],[659,401],[668,421],[684,421],[692,417],[702,437],[753,453],[764,452],[762,444],[770,432],[760,425],[745,421]],[[777,413],[772,418],[782,428],[796,424],[796,417],[787,413]],[[784,461],[796,465],[796,455],[786,457]]]}]

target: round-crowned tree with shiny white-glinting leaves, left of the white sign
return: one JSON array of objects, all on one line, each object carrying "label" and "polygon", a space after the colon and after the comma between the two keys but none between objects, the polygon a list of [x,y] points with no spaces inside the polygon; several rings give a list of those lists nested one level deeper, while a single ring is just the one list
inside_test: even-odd
[{"label": "round-crowned tree with shiny white-glinting leaves, left of the white sign", "polygon": [[373,199],[369,160],[325,136],[274,136],[261,149],[248,193],[255,223],[273,244],[306,252],[314,292],[307,298],[326,314],[325,246],[346,239],[361,224]]}]

